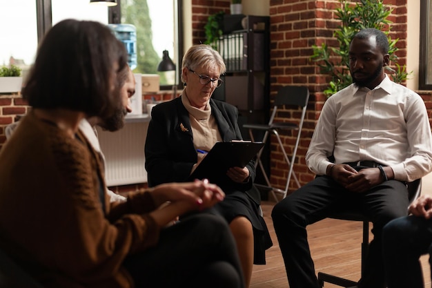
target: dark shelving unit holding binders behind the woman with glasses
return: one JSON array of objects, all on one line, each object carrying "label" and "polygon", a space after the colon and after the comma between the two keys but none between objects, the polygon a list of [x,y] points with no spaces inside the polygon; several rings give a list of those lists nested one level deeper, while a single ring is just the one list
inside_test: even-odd
[{"label": "dark shelving unit holding binders behind the woman with glasses", "polygon": [[[243,124],[266,124],[270,111],[270,17],[244,16],[241,26],[243,30],[230,31],[216,43],[226,64],[226,74],[222,76],[224,84],[215,90],[213,98],[237,106],[242,135],[244,140],[250,140]],[[260,140],[263,135],[254,137]],[[265,157],[270,155],[268,145],[262,155],[266,171],[269,171],[269,157]],[[257,173],[255,182],[264,183],[262,175]]]}]

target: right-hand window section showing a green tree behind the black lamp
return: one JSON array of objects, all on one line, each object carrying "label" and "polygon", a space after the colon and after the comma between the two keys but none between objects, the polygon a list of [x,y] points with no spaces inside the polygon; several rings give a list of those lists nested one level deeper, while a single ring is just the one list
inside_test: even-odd
[{"label": "right-hand window section showing a green tree behind the black lamp", "polygon": [[[159,74],[161,89],[171,89],[180,81],[183,55],[181,0],[121,0],[110,8],[110,23],[132,24],[137,29],[137,68],[134,72]],[[176,64],[175,71],[159,72],[163,51]]]}]

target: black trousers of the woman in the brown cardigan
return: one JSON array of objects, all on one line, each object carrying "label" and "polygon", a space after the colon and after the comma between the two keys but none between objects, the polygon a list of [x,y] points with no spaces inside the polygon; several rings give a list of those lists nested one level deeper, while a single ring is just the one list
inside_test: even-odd
[{"label": "black trousers of the woman in the brown cardigan", "polygon": [[243,288],[242,268],[228,224],[198,213],[161,231],[157,246],[129,256],[137,288]]}]

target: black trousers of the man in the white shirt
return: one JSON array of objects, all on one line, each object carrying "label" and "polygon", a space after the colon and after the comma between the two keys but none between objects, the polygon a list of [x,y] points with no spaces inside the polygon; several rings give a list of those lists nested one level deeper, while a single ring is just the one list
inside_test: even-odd
[{"label": "black trousers of the man in the white shirt", "polygon": [[406,185],[396,180],[383,182],[366,193],[353,193],[331,177],[321,176],[288,195],[275,205],[272,218],[290,287],[320,287],[309,250],[306,226],[327,218],[334,207],[349,210],[353,205],[359,205],[373,219],[374,238],[359,287],[385,287],[382,228],[390,220],[406,215],[408,204]]}]

